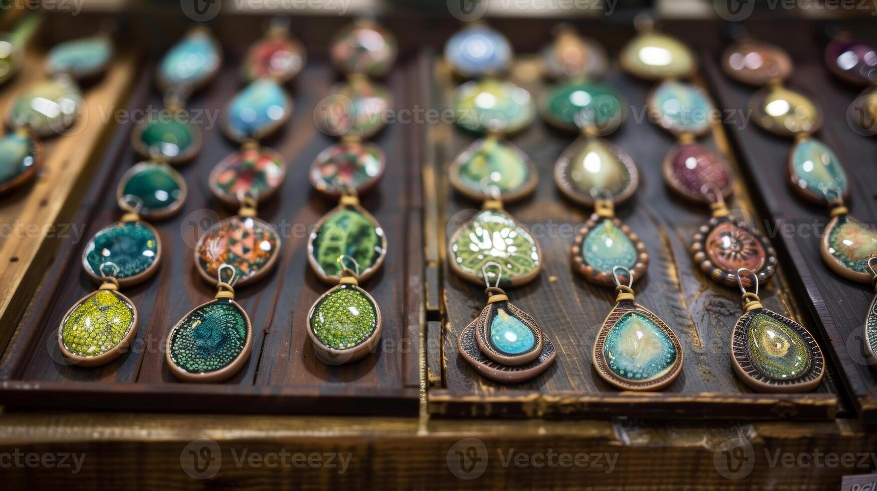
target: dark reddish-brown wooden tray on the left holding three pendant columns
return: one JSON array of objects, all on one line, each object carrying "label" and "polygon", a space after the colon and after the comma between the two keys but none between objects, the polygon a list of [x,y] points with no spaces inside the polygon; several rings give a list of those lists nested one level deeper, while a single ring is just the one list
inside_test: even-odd
[{"label": "dark reddish-brown wooden tray on the left holding three pendant columns", "polygon": [[[259,33],[254,30],[252,36]],[[236,46],[246,47],[248,40],[239,39]],[[305,331],[310,305],[330,288],[310,270],[307,233],[337,202],[311,190],[308,172],[317,153],[335,142],[315,128],[313,108],[328,95],[336,77],[326,63],[311,61],[290,85],[296,104],[293,117],[278,138],[266,142],[287,160],[288,172],[281,191],[260,207],[259,217],[288,225],[289,233],[282,238],[275,271],[238,288],[237,300],[251,317],[254,332],[253,353],[239,374],[218,384],[182,383],[168,371],[164,359],[165,340],[177,320],[215,293],[193,267],[192,245],[205,227],[204,217],[210,217],[205,209],[217,210],[219,217],[233,213],[207,188],[210,168],[237,148],[218,126],[203,132],[204,145],[196,160],[179,167],[189,186],[182,212],[155,223],[164,246],[158,274],[123,289],[140,314],[134,348],[97,368],[55,361],[60,355],[54,339],[61,317],[95,288],[82,271],[82,250],[95,231],[118,220],[116,186],[122,174],[142,160],[131,148],[133,125],[128,124],[112,140],[75,218],[76,224],[87,225],[82,242],[63,245],[7,347],[0,366],[0,403],[63,409],[416,415],[417,319],[421,317],[416,287],[421,284],[423,248],[417,206],[420,188],[406,185],[420,180],[417,167],[409,165],[413,159],[404,143],[415,131],[412,125],[389,125],[374,139],[386,153],[387,170],[377,188],[362,196],[363,206],[389,238],[381,272],[362,284],[381,308],[381,345],[358,362],[327,366],[316,358]],[[162,107],[152,80],[152,70],[144,70],[129,109],[145,108],[147,103]],[[397,104],[407,105],[412,96],[407,80],[406,68],[400,64],[386,81]],[[218,110],[241,87],[236,56],[226,53],[223,70],[190,101],[189,109]],[[307,232],[301,232],[301,225],[308,227]]]}]

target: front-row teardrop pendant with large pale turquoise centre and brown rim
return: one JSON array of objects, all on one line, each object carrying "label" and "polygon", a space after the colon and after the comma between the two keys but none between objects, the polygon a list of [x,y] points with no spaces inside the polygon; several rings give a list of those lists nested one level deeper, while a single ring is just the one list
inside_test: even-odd
[{"label": "front-row teardrop pendant with large pale turquoise centre and brown rim", "polygon": [[[618,270],[624,272],[618,275]],[[682,345],[660,317],[634,302],[635,274],[613,267],[616,304],[603,320],[591,359],[597,374],[622,390],[660,390],[682,371]],[[627,284],[622,284],[622,279]]]}]

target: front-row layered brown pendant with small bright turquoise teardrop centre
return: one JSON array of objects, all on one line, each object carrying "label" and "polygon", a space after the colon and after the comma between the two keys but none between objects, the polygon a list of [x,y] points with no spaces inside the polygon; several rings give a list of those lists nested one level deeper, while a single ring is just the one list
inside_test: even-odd
[{"label": "front-row layered brown pendant with small bright turquoise teardrop centre", "polygon": [[[488,274],[488,267],[496,267],[496,274]],[[528,381],[551,366],[557,357],[554,345],[536,321],[509,302],[509,296],[499,288],[502,265],[490,261],[481,273],[488,284],[488,303],[457,339],[460,355],[492,381]],[[490,278],[496,278],[493,286]]]}]

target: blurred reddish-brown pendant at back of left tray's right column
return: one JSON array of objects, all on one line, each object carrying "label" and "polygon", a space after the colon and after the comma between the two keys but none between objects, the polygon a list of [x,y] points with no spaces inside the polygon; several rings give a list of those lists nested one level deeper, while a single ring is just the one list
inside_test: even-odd
[{"label": "blurred reddish-brown pendant at back of left tray's right column", "polygon": [[341,72],[381,76],[396,60],[396,38],[380,25],[360,20],[335,34],[329,51]]}]

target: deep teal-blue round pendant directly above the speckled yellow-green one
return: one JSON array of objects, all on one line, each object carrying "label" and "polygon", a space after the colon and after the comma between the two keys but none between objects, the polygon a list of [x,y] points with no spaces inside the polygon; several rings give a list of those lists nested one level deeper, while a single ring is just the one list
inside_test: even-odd
[{"label": "deep teal-blue round pendant directly above the speckled yellow-green one", "polygon": [[146,222],[117,222],[98,231],[85,246],[82,267],[99,282],[103,278],[100,267],[108,261],[118,266],[115,278],[122,288],[147,280],[161,261],[158,232]]}]

